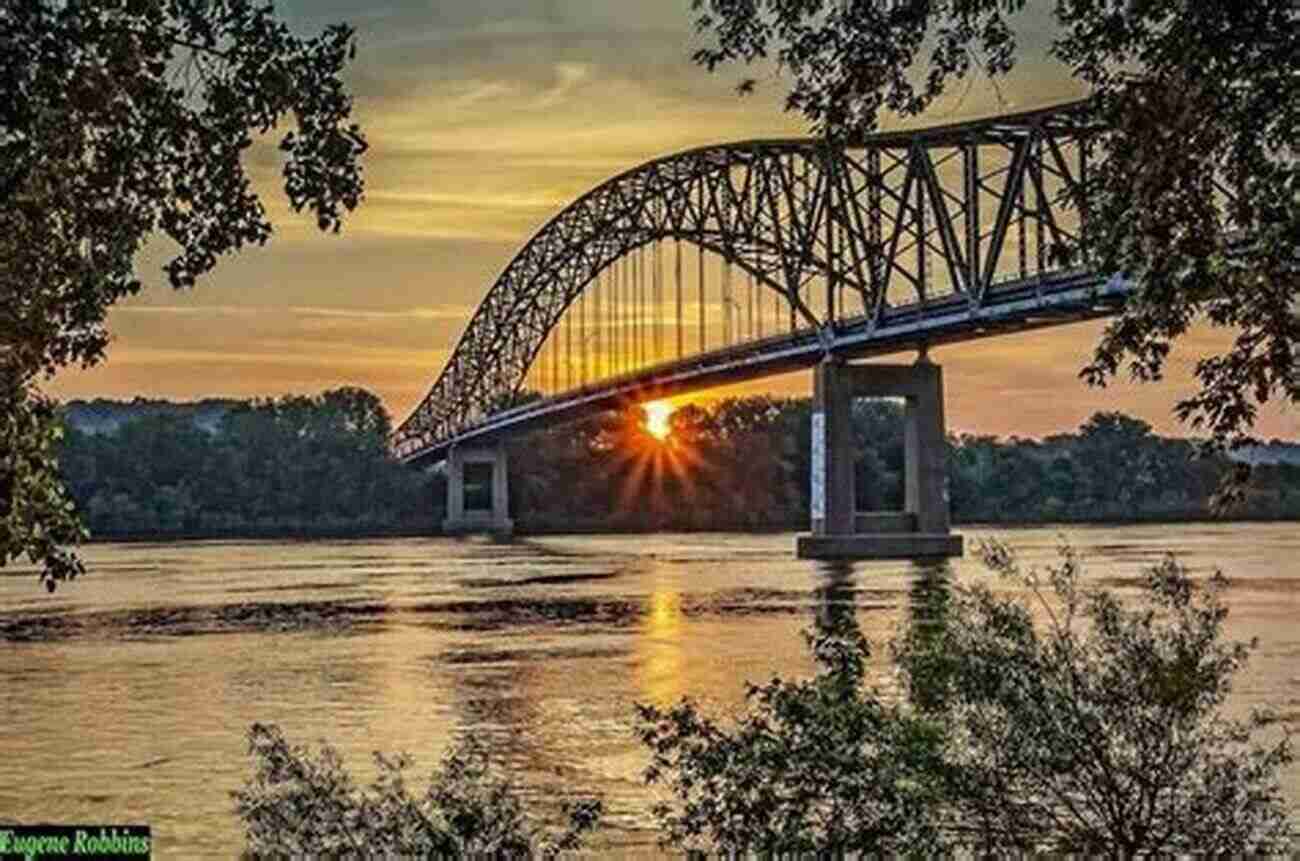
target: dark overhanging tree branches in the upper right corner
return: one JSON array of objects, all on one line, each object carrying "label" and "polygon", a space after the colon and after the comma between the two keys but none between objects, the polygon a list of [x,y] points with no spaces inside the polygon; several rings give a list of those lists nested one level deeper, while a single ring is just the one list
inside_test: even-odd
[{"label": "dark overhanging tree branches in the upper right corner", "polygon": [[[775,59],[786,108],[846,140],[1018,59],[1026,0],[693,0],[710,70]],[[1050,53],[1092,98],[1087,264],[1136,285],[1080,376],[1156,380],[1197,320],[1235,333],[1176,406],[1219,444],[1300,401],[1300,13],[1283,0],[1057,0]],[[753,79],[741,83],[742,91]],[[1223,192],[1230,192],[1225,202]],[[1082,250],[1070,250],[1078,256]]]}]

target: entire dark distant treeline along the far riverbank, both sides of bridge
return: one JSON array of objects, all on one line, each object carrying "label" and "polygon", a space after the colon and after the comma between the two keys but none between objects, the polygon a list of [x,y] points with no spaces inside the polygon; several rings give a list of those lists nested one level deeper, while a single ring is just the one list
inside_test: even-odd
[{"label": "entire dark distant treeline along the far riverbank, both sides of bridge", "polygon": [[[61,463],[95,536],[430,533],[442,520],[445,477],[390,458],[390,417],[368,391],[120,406],[66,416]],[[679,410],[667,441],[637,411],[517,437],[512,516],[521,531],[806,528],[810,410],[742,398]],[[901,408],[855,403],[854,434],[858,507],[900,509]],[[954,436],[948,463],[958,523],[1205,518],[1232,466],[1113,412],[1041,441]],[[1300,518],[1300,466],[1256,466],[1235,516]]]}]

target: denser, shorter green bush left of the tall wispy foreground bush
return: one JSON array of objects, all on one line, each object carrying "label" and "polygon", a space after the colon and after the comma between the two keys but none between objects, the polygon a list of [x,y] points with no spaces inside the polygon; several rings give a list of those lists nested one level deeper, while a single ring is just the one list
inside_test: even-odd
[{"label": "denser, shorter green bush left of the tall wispy foreground bush", "polygon": [[805,632],[819,672],[749,684],[724,728],[690,700],[637,705],[662,841],[677,849],[803,854],[935,852],[939,732],[862,693],[867,644],[854,624]]}]

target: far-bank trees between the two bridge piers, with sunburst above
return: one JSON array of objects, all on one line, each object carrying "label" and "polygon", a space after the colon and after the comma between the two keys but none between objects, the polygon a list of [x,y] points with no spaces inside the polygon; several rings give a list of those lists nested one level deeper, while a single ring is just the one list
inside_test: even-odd
[{"label": "far-bank trees between the two bridge piers, with sunburst above", "polygon": [[[510,444],[511,499],[521,528],[547,528],[558,488],[560,523],[590,528],[755,529],[806,523],[810,402],[766,397],[686,404],[668,440],[634,411],[606,414]],[[863,507],[902,505],[901,412],[854,404],[864,453]],[[744,501],[744,503],[741,503]]]}]

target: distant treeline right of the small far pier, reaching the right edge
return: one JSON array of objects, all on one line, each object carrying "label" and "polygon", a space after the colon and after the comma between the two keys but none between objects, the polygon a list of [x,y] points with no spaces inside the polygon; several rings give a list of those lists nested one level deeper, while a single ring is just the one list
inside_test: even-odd
[{"label": "distant treeline right of the small far pier, reaching the right edge", "polygon": [[[510,446],[512,507],[533,529],[807,528],[809,399],[745,398],[672,416],[660,445],[629,416],[601,416]],[[902,507],[902,408],[854,403],[857,503]],[[1115,412],[1046,440],[950,436],[957,523],[1184,520],[1210,515],[1232,463]],[[1300,518],[1300,466],[1254,468],[1244,518]]]}]

